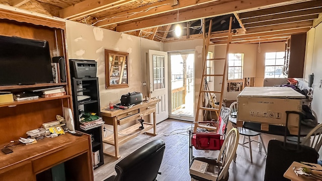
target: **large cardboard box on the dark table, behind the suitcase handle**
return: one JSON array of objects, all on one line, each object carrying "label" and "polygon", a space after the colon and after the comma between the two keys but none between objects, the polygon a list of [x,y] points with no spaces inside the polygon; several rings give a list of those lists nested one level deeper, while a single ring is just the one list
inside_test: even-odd
[{"label": "large cardboard box on the dark table, behind the suitcase handle", "polygon": [[[302,111],[305,96],[290,87],[245,87],[237,96],[240,121],[286,125],[286,111]],[[299,116],[289,115],[288,128],[297,134]]]}]

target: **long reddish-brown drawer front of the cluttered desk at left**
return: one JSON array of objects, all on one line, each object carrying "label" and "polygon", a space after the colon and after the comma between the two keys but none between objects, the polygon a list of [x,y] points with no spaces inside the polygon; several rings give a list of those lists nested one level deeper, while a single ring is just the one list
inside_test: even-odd
[{"label": "long reddish-brown drawer front of the cluttered desk at left", "polygon": [[55,151],[49,155],[45,155],[38,159],[32,161],[34,172],[38,173],[45,169],[50,168],[51,166],[67,161],[68,159],[74,157],[75,155],[87,151],[89,149],[89,140],[83,140],[63,148],[62,150]]}]

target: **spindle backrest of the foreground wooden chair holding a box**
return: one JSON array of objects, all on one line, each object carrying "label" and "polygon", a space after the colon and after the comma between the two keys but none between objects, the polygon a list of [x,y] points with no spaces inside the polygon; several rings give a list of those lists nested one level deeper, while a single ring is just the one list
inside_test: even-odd
[{"label": "spindle backrest of the foreground wooden chair holding a box", "polygon": [[226,134],[225,141],[218,154],[217,162],[222,163],[222,168],[218,174],[217,180],[225,178],[228,174],[229,165],[236,154],[239,141],[239,133],[236,128],[232,128],[228,134]]}]

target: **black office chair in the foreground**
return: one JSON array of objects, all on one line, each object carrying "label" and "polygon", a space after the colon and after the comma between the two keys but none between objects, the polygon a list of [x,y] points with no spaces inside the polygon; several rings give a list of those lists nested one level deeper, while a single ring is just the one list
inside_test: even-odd
[{"label": "black office chair in the foreground", "polygon": [[104,181],[156,181],[165,152],[165,141],[153,140],[116,163],[116,175]]}]

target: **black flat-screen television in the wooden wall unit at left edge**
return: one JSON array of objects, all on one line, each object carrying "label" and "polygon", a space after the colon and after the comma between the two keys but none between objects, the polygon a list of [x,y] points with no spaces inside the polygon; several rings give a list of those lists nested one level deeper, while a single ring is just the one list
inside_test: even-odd
[{"label": "black flat-screen television in the wooden wall unit at left edge", "polygon": [[53,82],[46,40],[0,36],[0,85]]}]

